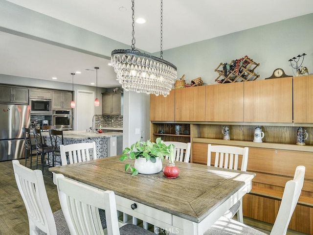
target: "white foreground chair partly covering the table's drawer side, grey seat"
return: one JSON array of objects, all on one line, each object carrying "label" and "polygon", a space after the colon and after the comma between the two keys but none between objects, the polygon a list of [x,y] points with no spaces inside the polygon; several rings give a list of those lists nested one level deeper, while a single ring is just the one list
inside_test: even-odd
[{"label": "white foreground chair partly covering the table's drawer side, grey seat", "polygon": [[[56,174],[56,182],[71,235],[154,235],[136,225],[118,221],[113,191],[92,188],[62,174]],[[106,214],[105,230],[101,227],[99,210],[104,210]]]}]

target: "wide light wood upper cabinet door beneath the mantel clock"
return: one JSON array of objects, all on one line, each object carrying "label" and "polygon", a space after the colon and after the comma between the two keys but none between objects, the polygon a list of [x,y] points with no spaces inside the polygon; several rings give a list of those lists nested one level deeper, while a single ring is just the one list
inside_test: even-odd
[{"label": "wide light wood upper cabinet door beneath the mantel clock", "polygon": [[292,122],[292,77],[244,83],[245,122]]}]

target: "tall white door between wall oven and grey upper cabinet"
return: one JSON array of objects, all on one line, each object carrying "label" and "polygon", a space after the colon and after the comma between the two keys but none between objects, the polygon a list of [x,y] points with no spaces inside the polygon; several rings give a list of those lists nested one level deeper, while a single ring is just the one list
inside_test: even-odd
[{"label": "tall white door between wall oven and grey upper cabinet", "polygon": [[94,114],[94,92],[77,90],[74,126],[77,131],[89,129]]}]

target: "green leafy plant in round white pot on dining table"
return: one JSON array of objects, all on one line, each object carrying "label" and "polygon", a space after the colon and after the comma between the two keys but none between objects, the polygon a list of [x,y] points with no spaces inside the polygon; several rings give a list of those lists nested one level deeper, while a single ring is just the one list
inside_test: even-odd
[{"label": "green leafy plant in round white pot on dining table", "polygon": [[171,145],[164,144],[161,138],[156,138],[156,142],[137,141],[123,150],[119,160],[131,159],[131,164],[125,164],[125,171],[130,169],[133,176],[138,173],[155,174],[162,170],[164,156],[170,156]]}]

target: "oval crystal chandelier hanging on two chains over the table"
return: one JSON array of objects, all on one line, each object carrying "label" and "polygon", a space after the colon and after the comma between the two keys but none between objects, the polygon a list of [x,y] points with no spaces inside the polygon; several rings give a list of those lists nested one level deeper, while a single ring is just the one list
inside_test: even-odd
[{"label": "oval crystal chandelier hanging on two chains over the table", "polygon": [[132,49],[115,49],[112,51],[111,65],[116,72],[117,80],[125,91],[134,91],[146,94],[162,94],[166,97],[177,78],[175,65],[163,60],[162,56],[162,13],[161,0],[161,44],[160,58],[139,50],[135,50],[134,38],[134,0],[133,11],[133,40]]}]

